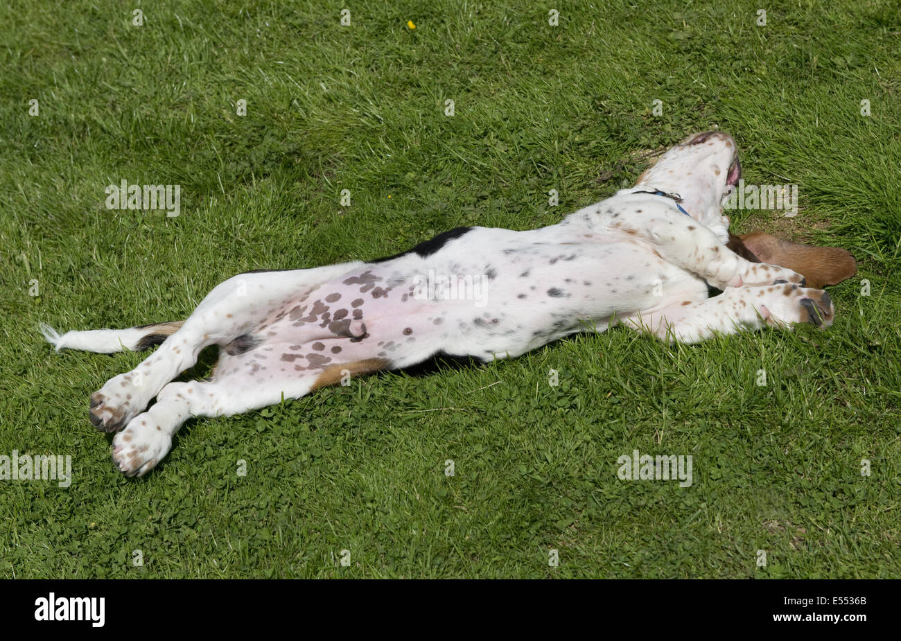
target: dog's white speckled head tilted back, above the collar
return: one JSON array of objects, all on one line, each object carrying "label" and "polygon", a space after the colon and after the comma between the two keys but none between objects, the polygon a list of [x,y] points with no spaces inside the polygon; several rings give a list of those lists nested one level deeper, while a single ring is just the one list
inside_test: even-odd
[{"label": "dog's white speckled head tilted back, above the collar", "polygon": [[723,203],[741,177],[742,165],[733,137],[722,131],[705,131],[669,149],[629,191],[644,189],[678,196],[688,215],[725,238],[729,219],[723,215]]}]

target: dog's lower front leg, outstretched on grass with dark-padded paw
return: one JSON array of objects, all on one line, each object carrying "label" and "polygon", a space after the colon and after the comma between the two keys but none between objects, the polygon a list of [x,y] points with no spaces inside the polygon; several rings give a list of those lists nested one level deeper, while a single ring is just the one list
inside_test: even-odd
[{"label": "dog's lower front leg, outstretched on grass with dark-padded paw", "polygon": [[681,302],[649,314],[633,314],[623,324],[661,340],[696,343],[714,331],[733,334],[766,325],[791,327],[807,322],[829,327],[835,309],[829,294],[796,284],[731,287],[702,302]]}]

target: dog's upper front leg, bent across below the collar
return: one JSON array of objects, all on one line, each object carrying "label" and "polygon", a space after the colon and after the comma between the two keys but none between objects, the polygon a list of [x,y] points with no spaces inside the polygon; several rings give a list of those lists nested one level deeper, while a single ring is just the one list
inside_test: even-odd
[{"label": "dog's upper front leg, bent across below the collar", "polygon": [[735,254],[713,231],[688,216],[654,207],[653,212],[616,214],[611,230],[650,242],[673,265],[699,275],[719,289],[742,284],[804,284],[804,276],[767,263],[751,263]]}]

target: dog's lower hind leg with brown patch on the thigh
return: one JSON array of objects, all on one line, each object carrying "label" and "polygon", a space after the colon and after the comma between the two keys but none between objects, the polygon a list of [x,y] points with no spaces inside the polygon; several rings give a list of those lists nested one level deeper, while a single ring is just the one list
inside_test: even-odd
[{"label": "dog's lower hind leg with brown patch on the thigh", "polygon": [[341,363],[315,371],[286,368],[273,380],[257,381],[246,370],[231,369],[210,381],[169,383],[150,410],[129,421],[113,438],[113,460],[127,476],[150,472],[172,447],[172,437],[192,416],[231,416],[296,399],[325,385],[337,384],[344,376],[385,369],[381,358]]}]

